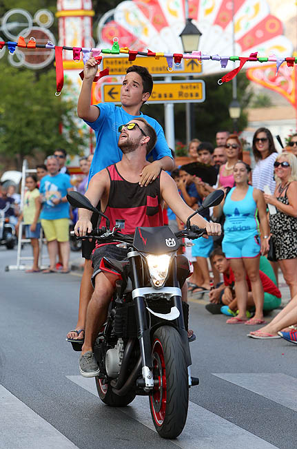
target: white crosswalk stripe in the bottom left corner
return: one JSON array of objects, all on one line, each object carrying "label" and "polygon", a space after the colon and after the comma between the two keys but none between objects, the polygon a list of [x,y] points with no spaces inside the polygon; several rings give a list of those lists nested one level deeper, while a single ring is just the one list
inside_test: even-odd
[{"label": "white crosswalk stripe in the bottom left corner", "polygon": [[78,449],[68,438],[0,385],[1,449]]}]

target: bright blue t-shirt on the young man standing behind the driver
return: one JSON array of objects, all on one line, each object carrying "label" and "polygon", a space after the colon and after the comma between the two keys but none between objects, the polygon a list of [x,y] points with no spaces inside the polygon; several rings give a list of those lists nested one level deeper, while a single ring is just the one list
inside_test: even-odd
[{"label": "bright blue t-shirt on the young man standing behind the driver", "polygon": [[161,159],[164,156],[172,158],[163,128],[154,118],[146,116],[142,112],[139,116],[132,116],[125,112],[123,107],[118,107],[114,103],[99,103],[96,107],[100,109],[100,115],[97,120],[94,122],[85,121],[85,123],[94,129],[96,135],[96,148],[90,168],[89,181],[98,171],[121,160],[123,153],[118,147],[120,136],[118,128],[120,125],[125,125],[125,123],[130,122],[133,118],[144,118],[156,131],[158,139],[150,156],[154,160]]}]

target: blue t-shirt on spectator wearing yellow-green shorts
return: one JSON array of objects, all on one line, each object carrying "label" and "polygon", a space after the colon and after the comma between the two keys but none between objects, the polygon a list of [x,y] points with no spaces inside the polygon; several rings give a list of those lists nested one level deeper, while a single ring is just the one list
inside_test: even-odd
[{"label": "blue t-shirt on spectator wearing yellow-green shorts", "polygon": [[58,220],[59,218],[69,218],[69,203],[59,202],[54,205],[52,199],[63,198],[71,189],[70,176],[59,173],[56,176],[43,176],[40,182],[39,191],[44,197],[40,218],[44,220]]}]

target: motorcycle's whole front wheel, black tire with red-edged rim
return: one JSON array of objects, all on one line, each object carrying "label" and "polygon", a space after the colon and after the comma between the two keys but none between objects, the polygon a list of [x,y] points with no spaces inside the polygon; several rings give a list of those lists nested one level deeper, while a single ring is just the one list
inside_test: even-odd
[{"label": "motorcycle's whole front wheel, black tire with red-edged rim", "polygon": [[152,361],[154,380],[161,379],[150,393],[152,420],[158,435],[174,439],[183,431],[189,404],[185,351],[176,328],[161,326],[154,332]]}]

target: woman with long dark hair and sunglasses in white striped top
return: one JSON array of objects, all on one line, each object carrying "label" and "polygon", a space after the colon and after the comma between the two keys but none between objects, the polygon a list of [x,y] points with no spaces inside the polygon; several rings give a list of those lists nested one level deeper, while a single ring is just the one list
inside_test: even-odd
[{"label": "woman with long dark hair and sunglasses in white striped top", "polygon": [[274,181],[274,161],[278,156],[274,146],[274,138],[267,128],[258,128],[253,137],[253,154],[256,165],[252,172],[252,185],[264,191],[269,186],[272,194],[276,188]]}]

